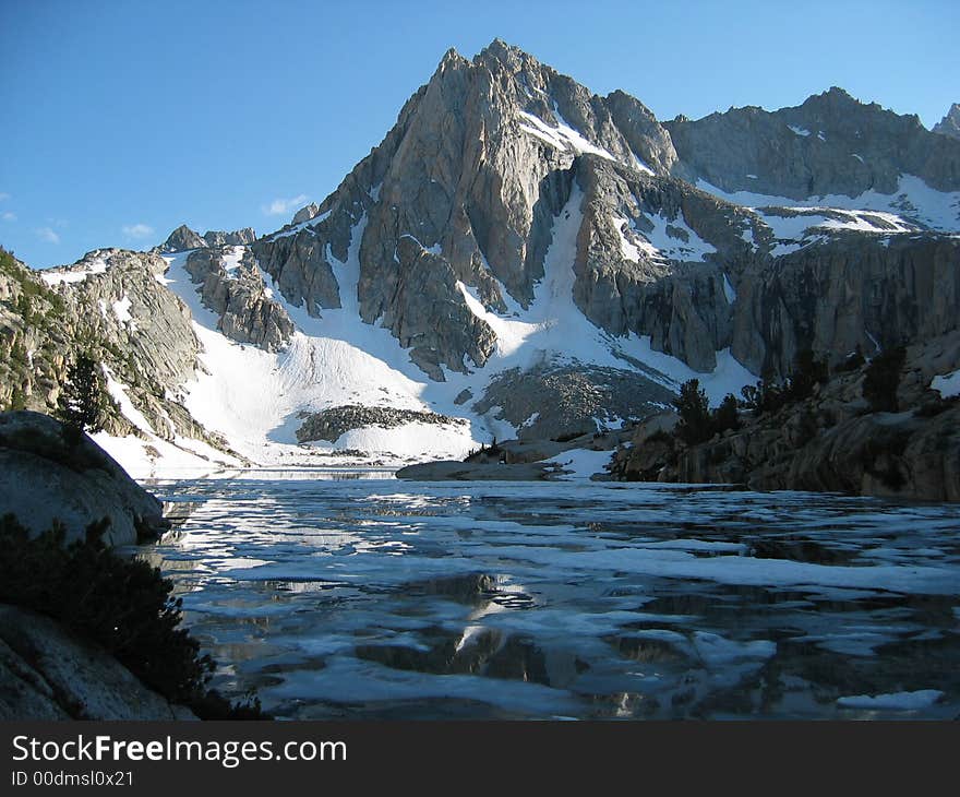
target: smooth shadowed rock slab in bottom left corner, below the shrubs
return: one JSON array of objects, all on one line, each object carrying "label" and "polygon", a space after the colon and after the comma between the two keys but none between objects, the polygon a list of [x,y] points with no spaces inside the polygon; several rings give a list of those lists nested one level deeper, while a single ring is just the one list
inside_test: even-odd
[{"label": "smooth shadowed rock slab in bottom left corner, below the shrubs", "polygon": [[34,611],[0,605],[0,719],[196,719],[101,647]]}]

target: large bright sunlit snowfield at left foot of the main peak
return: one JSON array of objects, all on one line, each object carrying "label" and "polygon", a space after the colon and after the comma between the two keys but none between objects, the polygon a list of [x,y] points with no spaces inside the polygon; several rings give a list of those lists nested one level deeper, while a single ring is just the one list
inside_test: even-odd
[{"label": "large bright sunlit snowfield at left foot of the main peak", "polygon": [[[348,449],[381,453],[395,464],[461,457],[479,444],[477,437],[485,437],[482,428],[461,424],[429,425],[429,429],[374,426],[351,430],[336,443],[298,444],[301,413],[346,404],[444,412],[424,400],[425,374],[409,361],[389,331],[359,317],[358,253],[364,226],[365,217],[352,230],[346,263],[329,260],[343,307],[314,318],[303,307],[285,304],[297,331],[286,350],[278,353],[236,343],[218,332],[216,314],[203,306],[183,267],[185,257],[166,258],[168,286],[190,306],[206,371],[184,385],[184,404],[201,424],[257,463],[337,464],[344,457],[336,453]],[[269,275],[262,274],[269,284]]]}]

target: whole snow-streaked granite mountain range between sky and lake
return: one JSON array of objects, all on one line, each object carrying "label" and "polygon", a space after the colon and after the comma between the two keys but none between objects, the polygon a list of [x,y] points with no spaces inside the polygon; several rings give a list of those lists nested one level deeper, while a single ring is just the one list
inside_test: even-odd
[{"label": "whole snow-streaked granite mountain range between sky and lake", "polygon": [[[151,253],[24,278],[99,316],[92,334],[146,374],[141,390],[111,366],[115,437],[125,419],[154,451],[232,447],[221,462],[409,460],[616,427],[692,377],[719,401],[804,348],[836,362],[945,335],[958,229],[960,141],[915,117],[831,88],[661,123],[495,40],[447,52],[283,229],[181,227]],[[31,406],[56,400],[19,378]],[[295,448],[356,406],[382,423]]]}]

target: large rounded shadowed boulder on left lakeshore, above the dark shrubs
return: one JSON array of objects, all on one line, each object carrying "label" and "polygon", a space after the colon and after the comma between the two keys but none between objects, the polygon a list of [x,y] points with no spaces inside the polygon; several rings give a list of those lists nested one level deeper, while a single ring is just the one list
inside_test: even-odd
[{"label": "large rounded shadowed boulder on left lakeshore, above the dark shrubs", "polygon": [[12,513],[33,534],[56,522],[67,540],[106,519],[104,540],[127,545],[167,527],[163,507],[86,436],[73,443],[53,418],[0,414],[0,514]]}]

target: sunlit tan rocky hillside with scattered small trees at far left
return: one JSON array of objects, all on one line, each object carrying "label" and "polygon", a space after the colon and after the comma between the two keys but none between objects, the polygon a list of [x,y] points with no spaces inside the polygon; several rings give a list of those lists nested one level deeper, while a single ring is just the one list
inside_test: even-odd
[{"label": "sunlit tan rocky hillside with scattered small trees at far left", "polygon": [[170,442],[179,435],[227,448],[179,397],[178,385],[194,374],[200,343],[187,306],[161,284],[163,258],[103,249],[43,273],[8,258],[0,270],[0,294],[8,295],[0,301],[0,406],[52,413],[67,368],[83,352],[122,385],[149,427],[132,421],[111,394],[108,432]]}]

